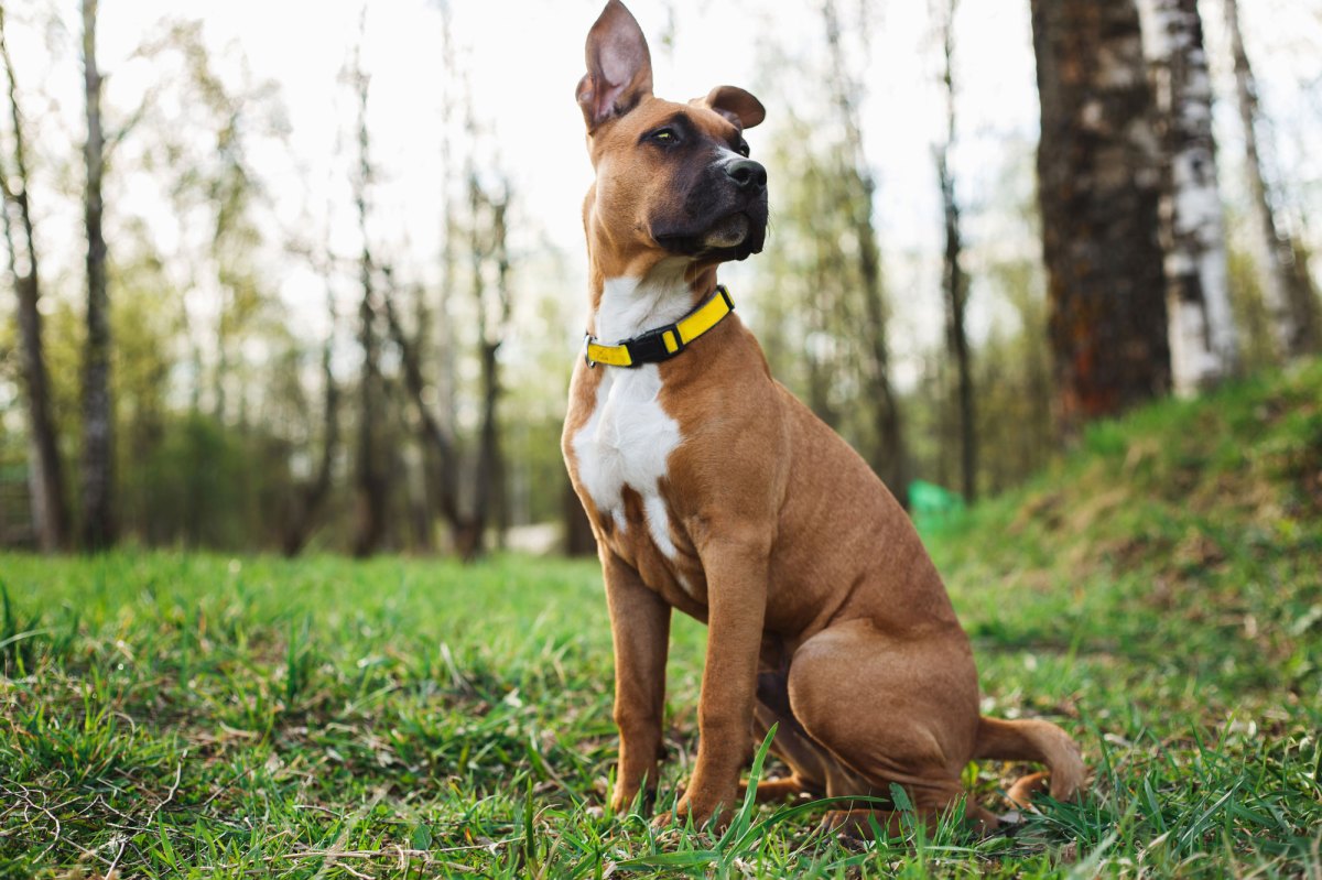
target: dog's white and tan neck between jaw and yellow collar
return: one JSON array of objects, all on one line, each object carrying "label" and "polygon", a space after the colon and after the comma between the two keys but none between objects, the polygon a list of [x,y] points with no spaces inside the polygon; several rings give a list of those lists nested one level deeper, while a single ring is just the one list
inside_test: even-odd
[{"label": "dog's white and tan neck between jaw and yellow collar", "polygon": [[674,324],[717,289],[717,267],[689,258],[664,258],[642,275],[607,276],[594,267],[588,333],[620,342]]}]

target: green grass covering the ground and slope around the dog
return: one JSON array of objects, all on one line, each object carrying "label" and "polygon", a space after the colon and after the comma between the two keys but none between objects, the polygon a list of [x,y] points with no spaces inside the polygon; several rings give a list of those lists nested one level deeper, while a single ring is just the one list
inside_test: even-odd
[{"label": "green grass covering the ground and slope around the dog", "polygon": [[[1322,877],[1322,365],[1099,425],[929,536],[986,711],[1085,799],[875,844],[603,815],[592,563],[0,555],[0,877]],[[662,801],[703,630],[677,621]],[[1022,768],[969,769],[980,799]]]}]

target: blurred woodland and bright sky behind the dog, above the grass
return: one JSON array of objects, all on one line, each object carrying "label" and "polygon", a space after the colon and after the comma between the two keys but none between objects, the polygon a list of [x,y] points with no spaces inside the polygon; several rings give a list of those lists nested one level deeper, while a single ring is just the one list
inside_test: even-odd
[{"label": "blurred woodland and bright sky behind the dog, above the grass", "polygon": [[[1319,0],[635,0],[772,370],[916,517],[1322,338]],[[596,0],[0,3],[0,547],[590,552]]]}]

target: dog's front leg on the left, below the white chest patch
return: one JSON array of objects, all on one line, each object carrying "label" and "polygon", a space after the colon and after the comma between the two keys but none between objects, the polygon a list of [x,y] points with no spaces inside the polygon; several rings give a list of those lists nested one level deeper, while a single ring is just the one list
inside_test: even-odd
[{"label": "dog's front leg on the left, below the white chest patch", "polygon": [[615,724],[620,728],[611,809],[623,813],[644,780],[649,789],[657,784],[670,606],[619,556],[604,547],[600,556],[615,643]]}]

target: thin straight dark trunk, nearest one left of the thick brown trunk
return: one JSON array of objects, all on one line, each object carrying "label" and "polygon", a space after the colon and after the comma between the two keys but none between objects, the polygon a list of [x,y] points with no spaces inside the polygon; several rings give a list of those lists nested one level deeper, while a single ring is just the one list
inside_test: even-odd
[{"label": "thin straight dark trunk, nearest one left of the thick brown trunk", "polygon": [[960,486],[964,499],[977,499],[977,414],[973,410],[973,373],[969,358],[969,338],[964,314],[968,309],[969,280],[960,266],[964,240],[960,234],[960,202],[954,196],[954,177],[951,173],[951,147],[954,144],[954,11],[958,0],[948,0],[941,21],[943,61],[941,83],[945,87],[945,143],[936,148],[936,172],[941,184],[941,203],[945,207],[945,255],[941,272],[945,288],[945,338],[954,359],[960,404]]}]

